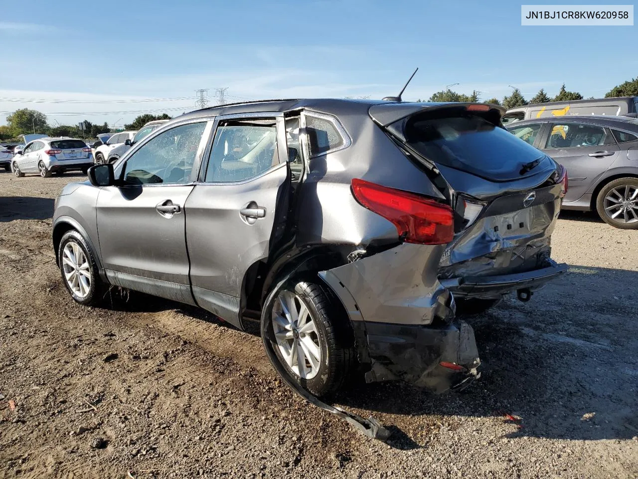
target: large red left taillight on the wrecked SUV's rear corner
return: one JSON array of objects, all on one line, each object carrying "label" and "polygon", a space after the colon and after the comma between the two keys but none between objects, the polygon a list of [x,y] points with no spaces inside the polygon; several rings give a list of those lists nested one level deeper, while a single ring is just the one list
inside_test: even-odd
[{"label": "large red left taillight on the wrecked SUV's rear corner", "polygon": [[357,178],[352,192],[360,204],[392,222],[408,243],[444,245],[454,238],[454,215],[445,204]]}]

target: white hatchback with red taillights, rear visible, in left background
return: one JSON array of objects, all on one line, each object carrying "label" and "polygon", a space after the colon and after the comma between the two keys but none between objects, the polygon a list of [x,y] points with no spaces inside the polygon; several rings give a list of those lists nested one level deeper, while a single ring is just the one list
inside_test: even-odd
[{"label": "white hatchback with red taillights, rear visible, in left background", "polygon": [[28,142],[24,149],[16,148],[11,160],[11,170],[17,178],[25,173],[40,173],[43,178],[66,171],[86,174],[91,166],[91,148],[84,141],[70,137],[45,137]]}]

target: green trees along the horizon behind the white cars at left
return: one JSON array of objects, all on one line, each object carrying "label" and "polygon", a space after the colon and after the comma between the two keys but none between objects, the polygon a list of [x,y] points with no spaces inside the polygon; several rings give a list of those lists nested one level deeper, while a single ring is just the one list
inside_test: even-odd
[{"label": "green trees along the horizon behind the white cars at left", "polygon": [[[146,123],[156,119],[170,119],[166,113],[161,115],[144,114],[140,115],[133,123],[124,125],[126,130],[139,130]],[[29,133],[43,133],[50,137],[75,137],[82,139],[96,138],[100,133],[110,133],[115,131],[108,126],[105,121],[102,125],[84,120],[84,130],[80,130],[78,125],[49,125],[47,116],[38,111],[23,108],[15,110],[6,117],[7,125],[0,125],[0,141],[20,141],[20,135]]]}]

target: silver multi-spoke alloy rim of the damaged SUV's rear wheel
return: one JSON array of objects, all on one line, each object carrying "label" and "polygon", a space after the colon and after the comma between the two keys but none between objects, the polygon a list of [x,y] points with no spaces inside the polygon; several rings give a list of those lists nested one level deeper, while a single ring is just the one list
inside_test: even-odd
[{"label": "silver multi-spoke alloy rim of the damaged SUV's rear wheel", "polygon": [[322,361],[322,348],[315,320],[297,294],[279,293],[272,308],[272,329],[288,368],[302,379],[315,377]]}]

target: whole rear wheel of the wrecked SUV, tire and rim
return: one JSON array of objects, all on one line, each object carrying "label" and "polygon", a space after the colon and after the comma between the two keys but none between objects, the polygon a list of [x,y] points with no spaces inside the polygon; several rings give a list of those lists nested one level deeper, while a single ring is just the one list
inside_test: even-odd
[{"label": "whole rear wheel of the wrecked SUV, tire and rim", "polygon": [[355,361],[352,330],[325,286],[283,287],[267,319],[272,349],[289,379],[318,397],[343,386]]}]

